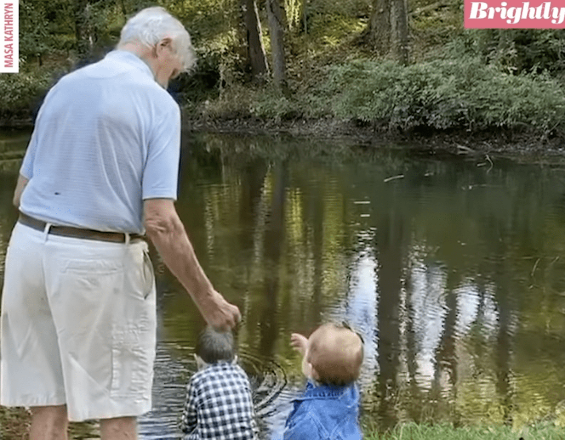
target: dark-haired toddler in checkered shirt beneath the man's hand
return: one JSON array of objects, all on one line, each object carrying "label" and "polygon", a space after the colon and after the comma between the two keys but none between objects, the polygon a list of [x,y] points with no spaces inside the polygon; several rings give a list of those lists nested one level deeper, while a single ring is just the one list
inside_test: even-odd
[{"label": "dark-haired toddler in checkered shirt beneath the man's hand", "polygon": [[257,440],[251,385],[239,365],[231,332],[206,328],[198,338],[198,372],[186,387],[181,418],[185,440]]}]

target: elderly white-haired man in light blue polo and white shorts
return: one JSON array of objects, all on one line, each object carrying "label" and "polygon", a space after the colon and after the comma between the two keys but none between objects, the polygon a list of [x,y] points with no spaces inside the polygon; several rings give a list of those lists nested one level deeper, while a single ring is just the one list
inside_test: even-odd
[{"label": "elderly white-haired man in light blue polo and white shorts", "polygon": [[0,404],[32,409],[31,440],[100,420],[134,439],[151,409],[153,241],[208,324],[240,319],[206,277],[176,213],[180,110],[168,81],[194,63],[163,8],[128,20],[117,50],[47,94],[14,195],[6,255]]}]

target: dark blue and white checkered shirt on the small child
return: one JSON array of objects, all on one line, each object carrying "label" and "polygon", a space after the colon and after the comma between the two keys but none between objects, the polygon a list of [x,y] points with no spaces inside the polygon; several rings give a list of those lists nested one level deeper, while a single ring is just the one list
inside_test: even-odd
[{"label": "dark blue and white checkered shirt on the small child", "polygon": [[220,361],[192,376],[181,418],[185,440],[256,440],[251,385],[237,364]]}]

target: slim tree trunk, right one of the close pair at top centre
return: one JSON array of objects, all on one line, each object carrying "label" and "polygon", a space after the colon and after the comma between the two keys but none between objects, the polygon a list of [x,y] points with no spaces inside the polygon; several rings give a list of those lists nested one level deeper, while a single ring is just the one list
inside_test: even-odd
[{"label": "slim tree trunk, right one of the close pair at top centre", "polygon": [[284,10],[279,0],[267,0],[267,17],[271,34],[271,50],[273,53],[273,78],[282,93],[288,93],[286,84],[286,64],[284,56]]}]

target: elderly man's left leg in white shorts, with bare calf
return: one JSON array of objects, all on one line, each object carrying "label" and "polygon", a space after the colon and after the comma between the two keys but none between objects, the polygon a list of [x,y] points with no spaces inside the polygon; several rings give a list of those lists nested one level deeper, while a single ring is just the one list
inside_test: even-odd
[{"label": "elderly man's left leg in white shorts, with bare calf", "polygon": [[31,440],[66,440],[67,400],[46,296],[44,242],[43,232],[18,223],[8,245],[0,314],[0,404],[32,408]]}]

